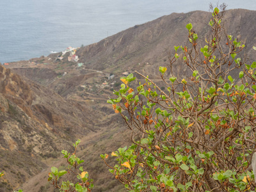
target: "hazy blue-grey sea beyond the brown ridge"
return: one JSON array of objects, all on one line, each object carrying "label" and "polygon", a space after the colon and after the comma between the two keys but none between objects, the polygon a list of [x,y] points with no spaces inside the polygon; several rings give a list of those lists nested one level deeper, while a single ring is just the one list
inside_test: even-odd
[{"label": "hazy blue-grey sea beyond the brown ridge", "polygon": [[[0,62],[29,60],[51,51],[99,42],[136,24],[173,12],[209,10],[212,0],[3,0]],[[256,10],[252,0],[227,0],[228,9]]]}]

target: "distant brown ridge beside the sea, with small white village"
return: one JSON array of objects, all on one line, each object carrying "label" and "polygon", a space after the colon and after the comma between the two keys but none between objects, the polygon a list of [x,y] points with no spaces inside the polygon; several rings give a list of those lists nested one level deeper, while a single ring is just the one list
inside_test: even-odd
[{"label": "distant brown ridge beside the sea, with small white village", "polygon": [[[172,13],[81,47],[76,51],[77,62],[68,61],[69,52],[65,55],[60,52],[45,58],[10,63],[8,68],[66,98],[84,100],[95,93],[100,93],[100,98],[102,95],[108,98],[106,90],[118,87],[118,79],[123,72],[138,70],[154,79],[159,78],[157,68],[168,65],[168,55],[173,54],[173,46],[188,44],[186,24],[189,22],[201,40],[198,44],[204,46],[205,37],[211,32],[207,26],[210,18],[209,12]],[[256,20],[255,11],[237,9],[228,10],[222,22],[225,22],[227,33],[246,44],[246,53],[255,59],[252,47],[256,41],[253,35],[256,26],[253,20]],[[60,56],[63,60],[57,60]],[[83,65],[78,67],[78,63]],[[177,74],[186,74],[181,60],[176,65]],[[108,81],[109,74],[115,74],[114,79]],[[105,81],[108,86],[102,86]]]}]

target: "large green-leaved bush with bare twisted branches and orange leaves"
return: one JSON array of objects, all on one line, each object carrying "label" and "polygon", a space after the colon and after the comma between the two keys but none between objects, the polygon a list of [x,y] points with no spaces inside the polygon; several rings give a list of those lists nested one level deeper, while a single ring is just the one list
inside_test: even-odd
[{"label": "large green-leaved bush with bare twisted branches and orange leaves", "polygon": [[[170,65],[159,67],[165,90],[136,72],[145,83],[134,87],[132,74],[122,77],[108,100],[132,145],[112,152],[113,166],[101,157],[128,191],[255,190],[256,62],[241,58],[244,45],[223,28],[224,11],[214,8],[202,47],[186,26],[189,45],[175,47]],[[177,77],[175,62],[186,76]]]}]

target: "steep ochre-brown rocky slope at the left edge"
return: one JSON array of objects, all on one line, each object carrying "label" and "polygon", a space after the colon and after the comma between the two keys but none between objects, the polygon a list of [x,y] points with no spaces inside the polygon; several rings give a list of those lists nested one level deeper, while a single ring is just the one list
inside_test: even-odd
[{"label": "steep ochre-brown rocky slope at the left edge", "polygon": [[86,106],[0,66],[0,170],[7,183],[0,191],[19,186],[46,167],[43,159],[70,148],[77,135],[89,134],[90,116]]}]

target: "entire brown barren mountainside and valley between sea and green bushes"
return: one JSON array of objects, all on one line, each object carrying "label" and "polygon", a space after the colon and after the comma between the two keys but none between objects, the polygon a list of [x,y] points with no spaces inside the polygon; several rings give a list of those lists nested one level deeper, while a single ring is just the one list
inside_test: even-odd
[{"label": "entire brown barren mountainside and valley between sea and green bushes", "polygon": [[[23,187],[26,191],[49,191],[47,182],[36,184],[46,180],[47,168],[56,163],[49,162],[49,157],[55,157],[56,151],[68,147],[81,134],[81,155],[91,165],[88,170],[95,178],[94,191],[124,190],[99,158],[100,153],[116,150],[128,140],[122,140],[124,125],[120,125],[122,120],[113,114],[106,100],[120,87],[124,72],[138,70],[159,79],[158,67],[168,65],[173,46],[188,44],[189,22],[202,39],[198,44],[204,46],[211,32],[207,26],[210,18],[208,12],[172,13],[77,49],[78,61],[70,60],[70,52],[60,52],[6,65],[26,81],[1,67],[0,156],[4,163],[0,169],[6,170],[3,189],[14,188],[46,168]],[[241,9],[228,10],[223,19],[227,34],[246,44],[246,53],[253,59],[255,20],[255,11]],[[176,64],[178,76],[186,75],[182,65],[182,61]],[[8,161],[10,157],[13,163]],[[29,166],[25,159],[31,161]],[[17,169],[26,176],[11,182]]]}]

